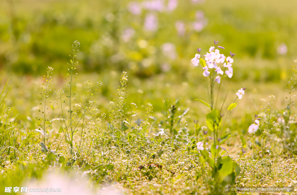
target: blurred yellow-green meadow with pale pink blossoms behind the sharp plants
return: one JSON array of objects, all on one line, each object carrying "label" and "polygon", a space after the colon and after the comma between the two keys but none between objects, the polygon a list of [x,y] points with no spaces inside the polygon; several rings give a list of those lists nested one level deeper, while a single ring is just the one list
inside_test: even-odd
[{"label": "blurred yellow-green meadow with pale pink blossoms behind the sharp plants", "polygon": [[15,106],[21,116],[32,114],[39,104],[34,94],[41,92],[48,66],[54,68],[53,88],[66,86],[75,40],[81,43],[78,79],[103,82],[98,101],[103,111],[114,98],[120,72],[127,71],[129,103],[151,102],[155,111],[162,111],[162,99],[178,98],[193,108],[192,117],[203,116],[204,105],[193,100],[208,99],[205,78],[191,59],[197,48],[205,54],[214,40],[225,47],[225,56],[236,53],[234,74],[224,81],[221,100],[228,89],[235,93],[247,87],[244,103],[238,105],[244,111],[236,117],[259,111],[260,99],[270,94],[276,95],[277,108],[286,104],[288,70],[297,58],[297,1],[0,2],[1,85],[8,78],[14,84],[7,104],[22,105]]}]

